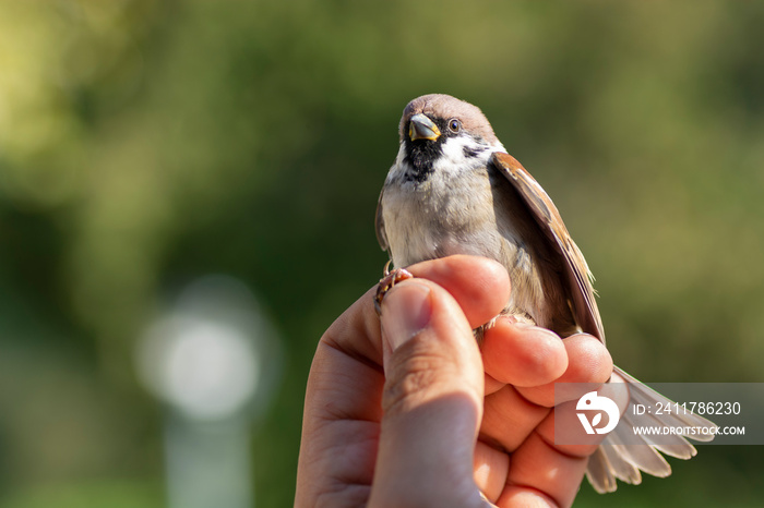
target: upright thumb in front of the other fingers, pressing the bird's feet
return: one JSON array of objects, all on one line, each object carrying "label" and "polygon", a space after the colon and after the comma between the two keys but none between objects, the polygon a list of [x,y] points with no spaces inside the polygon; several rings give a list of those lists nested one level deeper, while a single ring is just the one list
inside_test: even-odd
[{"label": "upright thumb in front of the other fingers, pressing the bird's feet", "polygon": [[473,480],[482,363],[440,286],[407,280],[382,303],[385,386],[370,506],[485,506]]}]

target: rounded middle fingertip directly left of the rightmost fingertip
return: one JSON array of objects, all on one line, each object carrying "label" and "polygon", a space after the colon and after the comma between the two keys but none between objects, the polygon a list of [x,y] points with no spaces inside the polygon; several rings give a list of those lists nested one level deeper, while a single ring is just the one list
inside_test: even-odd
[{"label": "rounded middle fingertip directly left of the rightmost fingertip", "polygon": [[486,373],[514,386],[546,385],[568,368],[563,341],[554,332],[536,326],[497,319],[482,343]]}]

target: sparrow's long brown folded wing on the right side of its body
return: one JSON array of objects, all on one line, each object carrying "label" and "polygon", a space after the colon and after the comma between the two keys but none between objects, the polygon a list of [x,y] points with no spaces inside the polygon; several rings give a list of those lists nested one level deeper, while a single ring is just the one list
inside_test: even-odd
[{"label": "sparrow's long brown folded wing on the right side of its body", "polygon": [[[583,331],[592,334],[605,342],[602,320],[599,317],[592,287],[592,274],[583,254],[562,222],[554,203],[541,189],[541,185],[511,155],[497,152],[491,157],[491,161],[517,190],[552,249],[565,261],[564,270],[570,286],[570,305],[577,325]],[[378,235],[379,223],[378,211]]]}]

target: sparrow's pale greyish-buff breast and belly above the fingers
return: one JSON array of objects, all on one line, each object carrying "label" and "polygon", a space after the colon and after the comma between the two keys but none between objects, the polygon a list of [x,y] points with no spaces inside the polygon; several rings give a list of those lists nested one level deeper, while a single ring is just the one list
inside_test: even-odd
[{"label": "sparrow's pale greyish-buff breast and belly above the fingers", "polygon": [[393,264],[454,254],[496,259],[512,283],[505,312],[551,327],[556,315],[570,311],[544,237],[511,184],[481,171],[385,188],[382,213]]}]

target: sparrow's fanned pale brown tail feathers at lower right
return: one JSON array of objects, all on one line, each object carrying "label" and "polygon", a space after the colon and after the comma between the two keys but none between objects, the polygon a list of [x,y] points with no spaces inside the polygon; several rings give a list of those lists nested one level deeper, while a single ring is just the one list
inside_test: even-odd
[{"label": "sparrow's fanned pale brown tail feathers at lower right", "polygon": [[[640,383],[619,367],[613,374],[620,376],[629,386],[629,406],[621,416],[619,425],[602,440],[597,451],[589,457],[586,469],[592,486],[599,493],[616,491],[616,479],[625,483],[638,484],[642,473],[665,477],[671,474],[671,467],[660,452],[678,459],[690,459],[697,450],[682,435],[635,435],[634,427],[705,427],[707,432],[693,435],[699,442],[709,442],[714,438],[717,425],[691,412],[673,412],[661,414],[658,419],[649,411],[636,414],[632,406],[642,404],[644,408],[657,408],[673,404],[668,398]],[[636,440],[635,440],[636,439]],[[638,442],[638,444],[637,444]]]}]

